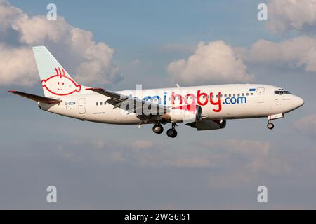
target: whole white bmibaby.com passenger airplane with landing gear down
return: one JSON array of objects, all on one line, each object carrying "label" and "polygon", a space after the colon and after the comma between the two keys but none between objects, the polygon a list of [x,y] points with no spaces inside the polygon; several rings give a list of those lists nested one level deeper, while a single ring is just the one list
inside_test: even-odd
[{"label": "whole white bmibaby.com passenger airplane with landing gear down", "polygon": [[177,136],[177,123],[196,130],[225,128],[226,120],[284,118],[298,109],[303,99],[282,87],[258,84],[205,85],[110,91],[77,83],[44,46],[33,48],[44,97],[9,91],[37,102],[44,111],[96,123],[119,125],[152,124],[156,134],[164,127],[168,137]]}]

